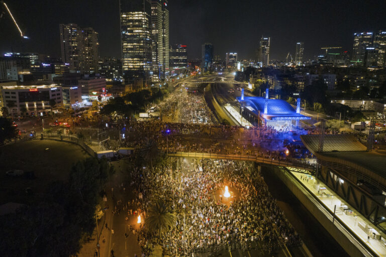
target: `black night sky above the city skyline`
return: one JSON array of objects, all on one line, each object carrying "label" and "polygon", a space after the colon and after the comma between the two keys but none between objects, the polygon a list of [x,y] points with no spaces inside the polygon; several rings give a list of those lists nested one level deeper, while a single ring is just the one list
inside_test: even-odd
[{"label": "black night sky above the city skyline", "polygon": [[[122,0],[130,1],[130,0]],[[59,24],[76,23],[99,33],[100,55],[120,56],[118,0],[6,0],[30,37],[22,40],[8,14],[0,20],[0,53],[38,52],[60,57]],[[386,1],[169,1],[170,44],[184,44],[188,57],[200,57],[201,44],[214,44],[215,55],[237,52],[255,58],[261,35],[271,37],[270,59],[294,56],[296,42],[305,57],[323,46],[352,50],[353,33],[386,30]],[[295,56],[294,56],[295,57]]]}]

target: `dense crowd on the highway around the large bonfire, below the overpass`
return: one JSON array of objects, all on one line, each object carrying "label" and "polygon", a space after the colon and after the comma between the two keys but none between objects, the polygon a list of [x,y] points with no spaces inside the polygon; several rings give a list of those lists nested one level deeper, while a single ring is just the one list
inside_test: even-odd
[{"label": "dense crowd on the highway around the large bonfire, below the overpass", "polygon": [[[301,243],[251,164],[201,160],[181,165],[179,172],[158,168],[151,176],[141,169],[133,173],[136,192],[142,196],[139,205],[145,210],[144,226],[135,232],[143,252],[161,244],[169,256],[191,256],[225,249],[246,251],[261,242],[262,250],[271,254],[279,245]],[[223,195],[226,185],[229,198]],[[160,237],[146,225],[146,210],[159,199],[176,217]]]}]

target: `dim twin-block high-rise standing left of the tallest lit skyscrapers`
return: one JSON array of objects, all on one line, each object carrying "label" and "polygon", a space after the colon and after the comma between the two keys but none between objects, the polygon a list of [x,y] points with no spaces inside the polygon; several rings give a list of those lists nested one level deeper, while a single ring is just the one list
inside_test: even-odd
[{"label": "dim twin-block high-rise standing left of the tallest lit skyscrapers", "polygon": [[71,70],[81,73],[98,71],[98,33],[92,28],[81,29],[76,24],[60,24],[60,46],[62,61],[70,64]]}]

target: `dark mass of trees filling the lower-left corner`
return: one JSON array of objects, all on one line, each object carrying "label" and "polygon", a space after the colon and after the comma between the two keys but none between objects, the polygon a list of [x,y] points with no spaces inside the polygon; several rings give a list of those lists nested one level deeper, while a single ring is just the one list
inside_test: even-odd
[{"label": "dark mass of trees filling the lower-left corner", "polygon": [[95,206],[109,173],[105,159],[76,163],[68,182],[52,182],[36,205],[2,216],[2,256],[73,256],[92,234]]}]

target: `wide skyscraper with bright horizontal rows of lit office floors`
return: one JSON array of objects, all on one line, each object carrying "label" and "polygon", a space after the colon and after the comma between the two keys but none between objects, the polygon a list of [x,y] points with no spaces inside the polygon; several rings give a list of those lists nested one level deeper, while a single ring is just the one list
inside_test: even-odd
[{"label": "wide skyscraper with bright horizontal rows of lit office floors", "polygon": [[151,2],[120,0],[122,69],[125,79],[143,78],[152,70]]}]

